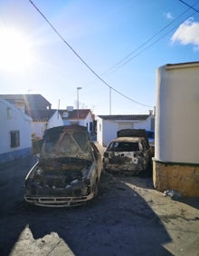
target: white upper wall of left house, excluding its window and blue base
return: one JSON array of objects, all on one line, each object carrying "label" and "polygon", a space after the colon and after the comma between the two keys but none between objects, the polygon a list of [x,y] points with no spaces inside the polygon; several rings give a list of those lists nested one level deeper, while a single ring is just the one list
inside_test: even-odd
[{"label": "white upper wall of left house, excluding its window and blue base", "polygon": [[[0,98],[0,154],[31,148],[31,121],[32,119],[28,115]],[[10,147],[11,131],[20,133],[20,145],[14,148]]]}]

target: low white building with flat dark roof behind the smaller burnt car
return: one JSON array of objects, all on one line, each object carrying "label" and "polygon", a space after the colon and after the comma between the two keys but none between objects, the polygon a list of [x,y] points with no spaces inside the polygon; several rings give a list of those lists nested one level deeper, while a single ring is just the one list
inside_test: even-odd
[{"label": "low white building with flat dark roof behind the smaller burnt car", "polygon": [[117,132],[122,129],[145,129],[154,131],[155,116],[149,114],[129,115],[99,115],[97,117],[97,141],[102,146],[117,137]]}]

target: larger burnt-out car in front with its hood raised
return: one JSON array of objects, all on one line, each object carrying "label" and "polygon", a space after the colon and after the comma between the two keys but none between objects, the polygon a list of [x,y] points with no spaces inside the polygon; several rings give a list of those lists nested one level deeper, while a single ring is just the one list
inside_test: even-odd
[{"label": "larger burnt-out car in front with its hood raised", "polygon": [[90,142],[86,127],[51,128],[38,144],[38,162],[24,182],[25,202],[67,207],[80,205],[97,195],[101,157],[96,145]]}]

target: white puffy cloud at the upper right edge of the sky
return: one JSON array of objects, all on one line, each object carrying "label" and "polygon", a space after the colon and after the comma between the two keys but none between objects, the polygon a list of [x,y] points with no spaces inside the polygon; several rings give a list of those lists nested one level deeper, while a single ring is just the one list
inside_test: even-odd
[{"label": "white puffy cloud at the upper right edge of the sky", "polygon": [[194,44],[194,50],[199,50],[199,23],[194,22],[194,18],[187,19],[179,25],[175,34],[171,37],[171,43]]}]

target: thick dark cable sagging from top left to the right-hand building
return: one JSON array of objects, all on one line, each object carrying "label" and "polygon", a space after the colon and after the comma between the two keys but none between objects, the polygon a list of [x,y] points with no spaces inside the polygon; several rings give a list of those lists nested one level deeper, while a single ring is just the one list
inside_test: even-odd
[{"label": "thick dark cable sagging from top left to the right-hand building", "polygon": [[131,102],[133,102],[133,103],[137,103],[137,104],[140,104],[140,105],[146,106],[146,107],[153,107],[153,106],[150,106],[150,105],[147,105],[147,104],[144,104],[144,103],[139,103],[139,102],[137,102],[137,101],[131,99],[131,98],[128,97],[127,95],[120,93],[118,90],[114,89],[111,85],[109,85],[107,82],[105,82],[105,81],[100,77],[100,75],[97,74],[97,73],[90,67],[90,65],[87,64],[87,63],[81,58],[80,54],[78,54],[78,53],[71,47],[71,44],[69,44],[69,43],[62,37],[62,34],[60,34],[60,33],[57,31],[57,29],[55,29],[55,27],[51,24],[51,22],[50,22],[50,21],[45,17],[45,15],[43,15],[43,13],[40,11],[40,9],[39,9],[36,5],[33,4],[33,1],[32,1],[32,0],[29,0],[29,2],[33,5],[33,7],[36,9],[36,11],[37,11],[40,15],[43,16],[43,19],[47,22],[48,25],[51,26],[52,30],[62,39],[63,43],[66,44],[66,45],[71,49],[71,51],[81,60],[81,62],[82,62],[83,64],[85,64],[85,65],[89,68],[90,72],[91,72],[92,74],[95,74],[95,76],[97,76],[103,84],[105,84],[106,86],[109,87],[109,89],[113,90],[113,91],[116,92],[117,94],[120,94],[121,96],[125,97],[126,99],[128,99],[129,101],[131,101]]}]

